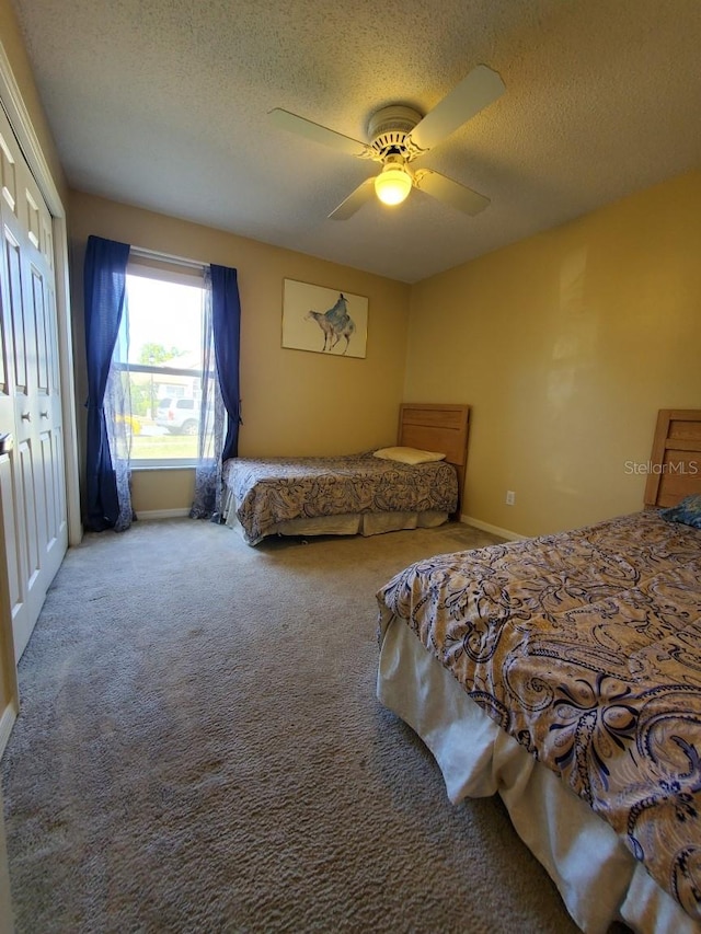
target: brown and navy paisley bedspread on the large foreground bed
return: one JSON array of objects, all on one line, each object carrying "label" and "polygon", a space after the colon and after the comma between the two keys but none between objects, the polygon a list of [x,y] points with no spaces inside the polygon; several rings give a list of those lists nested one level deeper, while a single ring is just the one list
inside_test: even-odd
[{"label": "brown and navy paisley bedspread on the large foreground bed", "polygon": [[[701,919],[701,531],[651,510],[438,555],[378,593]],[[593,854],[595,858],[595,854]]]}]

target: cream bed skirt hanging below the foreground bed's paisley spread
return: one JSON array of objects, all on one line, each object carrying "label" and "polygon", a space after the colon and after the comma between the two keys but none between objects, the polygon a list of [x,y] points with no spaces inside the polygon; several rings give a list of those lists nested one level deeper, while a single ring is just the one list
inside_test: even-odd
[{"label": "cream bed skirt hanging below the foreground bed's paisley spread", "polygon": [[699,934],[613,829],[470,700],[397,619],[381,645],[377,694],[432,751],[453,804],[498,792],[583,931],[606,934],[622,919],[641,934]]}]

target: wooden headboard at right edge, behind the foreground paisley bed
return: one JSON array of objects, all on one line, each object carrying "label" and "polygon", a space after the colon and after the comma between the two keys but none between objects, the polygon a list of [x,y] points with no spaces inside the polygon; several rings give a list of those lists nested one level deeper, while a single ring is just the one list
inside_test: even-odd
[{"label": "wooden headboard at right edge, behind the foreground paisley bed", "polygon": [[701,493],[701,408],[660,408],[645,485],[645,506],[676,506]]}]

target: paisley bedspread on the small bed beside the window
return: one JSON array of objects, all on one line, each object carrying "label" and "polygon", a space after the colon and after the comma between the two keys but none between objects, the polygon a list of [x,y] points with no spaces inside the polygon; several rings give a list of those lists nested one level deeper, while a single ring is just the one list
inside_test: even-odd
[{"label": "paisley bedspread on the small bed beside the window", "polygon": [[345,512],[455,512],[458,480],[444,461],[406,465],[372,452],[338,458],[233,458],[225,482],[245,541],[257,544],[278,522]]}]

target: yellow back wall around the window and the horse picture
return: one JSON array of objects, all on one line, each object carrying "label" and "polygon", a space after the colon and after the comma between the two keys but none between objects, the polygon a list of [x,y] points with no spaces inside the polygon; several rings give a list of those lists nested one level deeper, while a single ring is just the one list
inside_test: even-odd
[{"label": "yellow back wall around the window and the horse picture", "polygon": [[[94,233],[135,246],[239,270],[241,295],[242,457],[349,453],[391,443],[402,401],[410,287],[301,253],[71,192],[74,356],[84,430],[82,263]],[[283,279],[367,296],[365,359],[281,347]],[[192,501],[192,471],[137,473],[134,506],[179,509]]]}]

